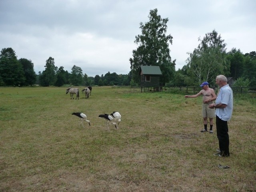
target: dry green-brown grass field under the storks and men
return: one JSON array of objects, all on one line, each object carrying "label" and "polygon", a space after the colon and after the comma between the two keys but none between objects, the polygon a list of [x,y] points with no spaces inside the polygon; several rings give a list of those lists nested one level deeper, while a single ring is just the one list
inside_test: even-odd
[{"label": "dry green-brown grass field under the storks and men", "polygon": [[[215,120],[214,134],[200,132],[202,97],[93,87],[70,100],[65,91],[0,87],[1,192],[256,191],[255,98],[234,97],[230,157],[220,158]],[[98,115],[113,111],[122,122],[108,131]]]}]

